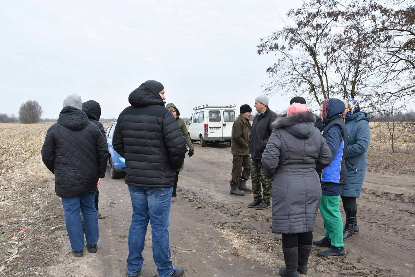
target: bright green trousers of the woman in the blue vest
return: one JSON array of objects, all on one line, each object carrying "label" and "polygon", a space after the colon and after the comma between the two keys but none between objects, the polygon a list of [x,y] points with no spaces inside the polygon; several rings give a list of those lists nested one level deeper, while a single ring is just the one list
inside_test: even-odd
[{"label": "bright green trousers of the woman in the blue vest", "polygon": [[325,237],[332,240],[333,247],[343,247],[343,220],[340,213],[340,196],[322,194],[320,213],[324,221]]}]

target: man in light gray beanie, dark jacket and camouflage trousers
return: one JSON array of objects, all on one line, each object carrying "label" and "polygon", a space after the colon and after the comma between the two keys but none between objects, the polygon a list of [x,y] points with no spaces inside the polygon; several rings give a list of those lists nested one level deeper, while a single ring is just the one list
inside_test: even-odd
[{"label": "man in light gray beanie, dark jacket and camouflage trousers", "polygon": [[[255,98],[256,111],[258,112],[252,123],[252,132],[249,137],[248,147],[251,152],[251,180],[254,201],[248,204],[249,208],[263,210],[271,207],[271,180],[265,177],[261,159],[266,143],[271,136],[271,123],[277,115],[268,108],[268,97],[260,95]],[[261,191],[263,191],[261,195]]]}]

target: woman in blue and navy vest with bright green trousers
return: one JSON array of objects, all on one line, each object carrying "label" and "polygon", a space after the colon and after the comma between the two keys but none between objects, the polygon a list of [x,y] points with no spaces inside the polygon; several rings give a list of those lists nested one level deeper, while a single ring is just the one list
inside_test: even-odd
[{"label": "woman in blue and navy vest with bright green trousers", "polygon": [[332,152],[331,164],[319,172],[322,198],[320,213],[324,221],[325,237],[315,240],[318,246],[329,249],[318,252],[319,256],[344,256],[343,221],[340,213],[340,191],[347,184],[347,168],[344,162],[349,135],[343,122],[344,103],[339,99],[325,99],[320,106],[323,121],[321,134]]}]

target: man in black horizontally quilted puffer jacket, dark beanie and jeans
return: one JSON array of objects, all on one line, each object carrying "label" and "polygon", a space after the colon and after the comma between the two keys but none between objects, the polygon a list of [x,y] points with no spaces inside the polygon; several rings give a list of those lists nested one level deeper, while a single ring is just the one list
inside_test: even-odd
[{"label": "man in black horizontally quilted puffer jacket, dark beanie and jeans", "polygon": [[164,108],[164,86],[154,80],[130,93],[131,106],[118,117],[112,146],[125,158],[132,202],[128,233],[127,276],[137,276],[143,266],[142,251],[151,219],[153,258],[159,276],[184,276],[170,260],[168,213],[171,208],[174,174],[186,154],[186,139],[173,114]]}]

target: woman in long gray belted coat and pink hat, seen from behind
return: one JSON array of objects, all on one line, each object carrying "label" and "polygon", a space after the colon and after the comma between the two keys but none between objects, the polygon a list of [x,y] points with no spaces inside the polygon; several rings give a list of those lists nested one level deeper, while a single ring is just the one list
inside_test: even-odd
[{"label": "woman in long gray belted coat and pink hat, seen from behind", "polygon": [[314,126],[315,115],[307,105],[293,103],[287,117],[278,118],[262,154],[264,173],[272,177],[273,233],[282,233],[286,267],[283,277],[307,273],[321,199],[316,172],[327,167],[332,154],[326,140]]}]

